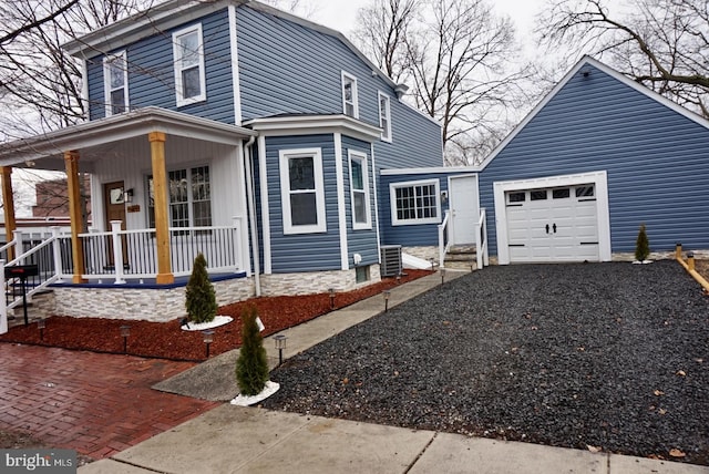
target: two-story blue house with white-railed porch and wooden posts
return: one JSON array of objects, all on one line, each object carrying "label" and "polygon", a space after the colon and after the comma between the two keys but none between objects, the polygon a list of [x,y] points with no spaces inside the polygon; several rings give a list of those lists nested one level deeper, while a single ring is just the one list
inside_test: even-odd
[{"label": "two-story blue house with white-railed porch and wooden posts", "polygon": [[64,48],[88,121],[0,147],[6,196],[12,167],[69,176],[71,236],[2,249],[40,265],[54,313],[179,317],[198,253],[220,303],[349,290],[380,279],[382,246],[443,221],[445,188],[380,176],[440,171],[439,124],[336,31],[257,1],[173,0]]}]

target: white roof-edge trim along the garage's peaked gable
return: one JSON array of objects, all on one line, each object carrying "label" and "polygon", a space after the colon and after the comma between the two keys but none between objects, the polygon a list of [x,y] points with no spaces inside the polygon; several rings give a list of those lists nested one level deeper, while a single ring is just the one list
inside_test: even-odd
[{"label": "white roof-edge trim along the garage's peaked gable", "polygon": [[524,127],[546,106],[546,104],[548,104],[564,89],[564,86],[572,80],[572,78],[574,78],[577,72],[582,71],[585,66],[588,66],[588,65],[592,65],[600,70],[602,72],[616,79],[623,84],[641,93],[643,95],[646,95],[647,97],[654,100],[655,102],[658,102],[659,104],[665,105],[666,107],[670,109],[672,112],[676,112],[691,120],[692,122],[696,122],[697,124],[703,126],[705,128],[709,130],[709,121],[703,118],[701,115],[698,115],[695,112],[691,112],[690,110],[682,107],[678,103],[670,101],[664,95],[660,95],[657,92],[647,89],[643,84],[631,80],[630,78],[602,63],[600,61],[595,60],[588,55],[585,55],[576,63],[576,65],[574,65],[574,68],[571,69],[571,71],[566,73],[566,75],[564,75],[564,78],[554,86],[554,89],[552,89],[552,91],[548,94],[546,94],[544,99],[542,99],[542,101],[522,120],[522,122],[520,122],[520,124],[516,127],[514,127],[514,130],[510,132],[510,134],[507,134],[507,136],[505,136],[505,138],[502,142],[500,142],[500,144],[495,147],[495,150],[493,150],[492,153],[483,161],[483,163],[480,164],[479,171],[483,171],[510,144],[510,142],[512,142],[515,138],[515,136],[517,136],[520,132],[522,132]]}]

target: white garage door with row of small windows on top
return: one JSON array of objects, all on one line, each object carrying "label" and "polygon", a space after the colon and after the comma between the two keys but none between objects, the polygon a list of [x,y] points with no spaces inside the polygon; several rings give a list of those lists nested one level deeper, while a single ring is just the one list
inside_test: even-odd
[{"label": "white garage door with row of small windows on top", "polygon": [[597,261],[594,184],[505,193],[511,262]]}]

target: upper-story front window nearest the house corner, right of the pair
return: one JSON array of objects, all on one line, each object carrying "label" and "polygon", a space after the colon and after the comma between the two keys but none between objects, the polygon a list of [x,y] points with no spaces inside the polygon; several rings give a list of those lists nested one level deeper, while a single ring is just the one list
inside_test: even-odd
[{"label": "upper-story front window nearest the house corner, right of the pair", "polygon": [[177,106],[204,101],[207,94],[202,24],[173,33],[173,54]]}]

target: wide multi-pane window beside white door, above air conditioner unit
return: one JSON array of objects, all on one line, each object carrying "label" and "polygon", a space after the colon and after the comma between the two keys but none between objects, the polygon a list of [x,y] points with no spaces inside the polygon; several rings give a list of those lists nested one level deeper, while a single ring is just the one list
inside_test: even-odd
[{"label": "wide multi-pane window beside white door, above air conditioner unit", "polygon": [[389,185],[391,223],[394,226],[441,221],[439,181],[423,179]]}]

